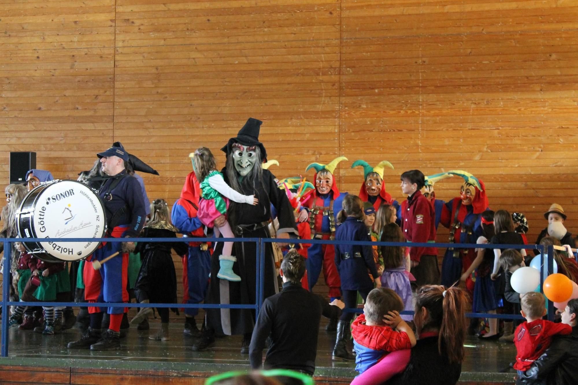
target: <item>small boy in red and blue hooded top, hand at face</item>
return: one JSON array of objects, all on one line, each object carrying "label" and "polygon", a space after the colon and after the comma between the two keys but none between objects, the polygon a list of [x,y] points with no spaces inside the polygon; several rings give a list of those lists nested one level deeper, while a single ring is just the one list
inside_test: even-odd
[{"label": "small boy in red and blue hooded top, hand at face", "polygon": [[387,353],[410,349],[416,345],[412,328],[399,316],[402,299],[390,288],[380,287],[369,292],[360,314],[351,325],[355,353],[355,370],[363,373]]}]

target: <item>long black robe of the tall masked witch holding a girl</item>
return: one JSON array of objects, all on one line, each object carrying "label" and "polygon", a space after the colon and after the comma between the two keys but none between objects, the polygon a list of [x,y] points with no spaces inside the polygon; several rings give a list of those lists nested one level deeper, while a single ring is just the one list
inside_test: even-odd
[{"label": "long black robe of the tall masked witch holding a girl", "polygon": [[[225,182],[228,184],[227,173],[223,169]],[[288,232],[292,238],[297,238],[298,231],[295,224],[293,208],[284,190],[277,187],[275,176],[263,170],[261,186],[254,186],[254,191],[240,191],[245,195],[253,195],[259,199],[258,205],[230,202],[227,210],[229,224],[237,238],[271,238],[266,225],[262,224],[271,219],[271,204],[275,207],[279,219],[277,234]],[[229,185],[230,186],[230,185]],[[256,191],[256,192],[255,192]],[[256,225],[257,228],[241,227]],[[262,226],[262,227],[261,227]],[[276,294],[277,277],[273,249],[271,243],[265,243],[264,269],[264,299]],[[205,303],[221,304],[255,304],[255,284],[257,271],[257,243],[235,242],[233,256],[237,262],[233,271],[241,277],[240,282],[229,282],[218,279],[218,256],[223,251],[223,243],[219,242],[211,259],[211,280]],[[253,332],[255,312],[250,309],[208,309],[207,325],[210,329],[223,332],[227,335],[246,334]]]}]

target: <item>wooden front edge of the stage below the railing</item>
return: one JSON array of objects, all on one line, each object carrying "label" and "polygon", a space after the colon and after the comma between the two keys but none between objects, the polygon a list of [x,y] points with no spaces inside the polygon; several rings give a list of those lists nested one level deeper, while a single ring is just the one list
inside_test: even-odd
[{"label": "wooden front edge of the stage below the railing", "polygon": [[[0,358],[0,382],[7,384],[194,384],[246,365],[195,362],[114,361],[56,358]],[[317,384],[349,384],[350,369],[317,368]],[[512,373],[464,372],[462,385],[513,384]]]}]

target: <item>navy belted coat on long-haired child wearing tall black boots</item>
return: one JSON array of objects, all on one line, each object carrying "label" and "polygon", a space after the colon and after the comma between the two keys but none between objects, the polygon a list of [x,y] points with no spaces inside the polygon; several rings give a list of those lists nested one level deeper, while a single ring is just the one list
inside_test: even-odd
[{"label": "navy belted coat on long-haired child wearing tall black boots", "polygon": [[[335,232],[335,240],[366,240],[371,242],[369,230],[364,221],[347,217]],[[373,261],[373,249],[368,246],[335,245],[335,265],[341,278],[343,290],[364,290],[373,288],[369,273],[379,277]]]}]

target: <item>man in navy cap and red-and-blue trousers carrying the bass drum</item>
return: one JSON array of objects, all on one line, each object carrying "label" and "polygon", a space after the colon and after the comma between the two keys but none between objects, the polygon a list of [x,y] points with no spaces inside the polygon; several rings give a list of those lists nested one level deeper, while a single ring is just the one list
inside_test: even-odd
[{"label": "man in navy cap and red-and-blue trousers carrying the bass drum", "polygon": [[[138,180],[127,174],[128,153],[122,145],[97,154],[101,158],[102,172],[110,178],[102,184],[99,197],[105,206],[108,221],[107,235],[113,238],[136,237],[142,229],[146,212]],[[84,298],[87,302],[128,302],[128,253],[134,250],[133,242],[103,243],[91,260],[103,260],[116,251],[120,255],[112,258],[102,268],[95,270],[92,264],[84,264]],[[109,328],[101,338],[103,311],[110,314]],[[89,307],[90,327],[83,336],[68,343],[71,349],[117,350],[120,349],[120,324],[127,308]]]}]

